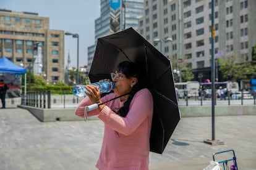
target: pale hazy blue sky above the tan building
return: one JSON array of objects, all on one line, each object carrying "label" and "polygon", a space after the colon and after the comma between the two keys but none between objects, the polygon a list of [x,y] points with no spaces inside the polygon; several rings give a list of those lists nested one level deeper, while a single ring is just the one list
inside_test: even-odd
[{"label": "pale hazy blue sky above the tan building", "polygon": [[[100,0],[0,0],[0,9],[35,12],[49,17],[49,29],[79,34],[79,66],[87,65],[87,47],[95,44],[95,19],[100,17]],[[77,67],[77,38],[65,36],[64,57],[70,54]]]}]

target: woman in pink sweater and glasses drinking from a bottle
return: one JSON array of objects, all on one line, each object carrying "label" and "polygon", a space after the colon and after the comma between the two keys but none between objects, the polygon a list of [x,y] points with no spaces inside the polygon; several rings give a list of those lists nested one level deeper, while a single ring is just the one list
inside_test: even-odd
[{"label": "woman in pink sweater and glasses drinking from a bottle", "polygon": [[88,116],[98,115],[105,124],[98,169],[148,169],[150,130],[153,116],[153,98],[143,85],[139,67],[132,62],[121,62],[116,73],[111,73],[116,87],[114,93],[100,98],[95,86],[87,85],[90,92],[75,110],[84,116],[86,105],[101,103],[124,95],[89,111]]}]

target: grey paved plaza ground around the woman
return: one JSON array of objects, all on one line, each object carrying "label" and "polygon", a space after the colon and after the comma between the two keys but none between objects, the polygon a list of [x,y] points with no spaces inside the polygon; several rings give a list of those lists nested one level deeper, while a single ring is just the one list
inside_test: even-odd
[{"label": "grey paved plaza ground around the woman", "polygon": [[[27,110],[0,110],[0,169],[96,169],[103,123],[41,123]],[[208,145],[211,117],[182,118],[162,155],[150,153],[150,169],[203,169],[212,154],[234,149],[238,168],[256,169],[256,116],[217,116]],[[232,155],[231,155],[232,158]]]}]

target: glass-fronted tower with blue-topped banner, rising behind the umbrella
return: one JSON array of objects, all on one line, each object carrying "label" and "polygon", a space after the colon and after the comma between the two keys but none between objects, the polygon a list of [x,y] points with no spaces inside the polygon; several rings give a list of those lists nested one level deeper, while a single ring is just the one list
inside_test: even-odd
[{"label": "glass-fronted tower with blue-topped banner, rising behind the umbrella", "polygon": [[101,0],[101,14],[95,20],[95,44],[88,47],[88,70],[92,65],[97,39],[126,28],[137,30],[143,16],[143,0]]}]

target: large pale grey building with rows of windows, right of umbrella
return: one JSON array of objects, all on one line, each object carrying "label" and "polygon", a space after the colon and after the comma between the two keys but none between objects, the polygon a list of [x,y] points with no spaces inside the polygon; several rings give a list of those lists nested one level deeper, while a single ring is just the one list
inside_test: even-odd
[{"label": "large pale grey building with rows of windows, right of umbrella", "polygon": [[[254,0],[215,0],[216,58],[234,54],[252,60],[255,7]],[[139,33],[171,59],[175,70],[186,63],[195,79],[198,73],[211,78],[211,0],[145,0]]]}]

